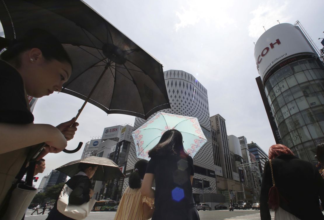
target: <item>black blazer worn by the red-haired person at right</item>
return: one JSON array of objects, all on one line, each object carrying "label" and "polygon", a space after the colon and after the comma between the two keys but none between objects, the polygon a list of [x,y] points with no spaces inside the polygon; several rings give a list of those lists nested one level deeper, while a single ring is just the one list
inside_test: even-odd
[{"label": "black blazer worn by the red-haired person at right", "polygon": [[[273,176],[280,194],[280,207],[301,220],[324,220],[319,198],[324,202],[324,180],[311,163],[290,154],[272,159]],[[261,220],[271,220],[268,193],[272,187],[269,161],[264,165],[260,194]]]}]

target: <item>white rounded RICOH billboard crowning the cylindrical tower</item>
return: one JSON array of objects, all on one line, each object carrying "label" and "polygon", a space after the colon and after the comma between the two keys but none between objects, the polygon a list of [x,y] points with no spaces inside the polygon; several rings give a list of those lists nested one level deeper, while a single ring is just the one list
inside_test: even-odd
[{"label": "white rounded RICOH billboard crowning the cylindrical tower", "polygon": [[262,81],[275,64],[300,53],[316,54],[316,51],[299,27],[282,23],[264,32],[254,47],[254,58]]}]

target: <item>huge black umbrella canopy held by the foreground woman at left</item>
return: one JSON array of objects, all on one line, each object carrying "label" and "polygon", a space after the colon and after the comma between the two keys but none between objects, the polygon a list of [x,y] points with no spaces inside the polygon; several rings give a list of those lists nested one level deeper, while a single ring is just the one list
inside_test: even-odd
[{"label": "huge black umbrella canopy held by the foreground woman at left", "polygon": [[107,114],[147,119],[170,108],[162,65],[83,1],[2,0],[0,21],[8,39],[39,28],[63,44],[73,71],[62,92]]}]

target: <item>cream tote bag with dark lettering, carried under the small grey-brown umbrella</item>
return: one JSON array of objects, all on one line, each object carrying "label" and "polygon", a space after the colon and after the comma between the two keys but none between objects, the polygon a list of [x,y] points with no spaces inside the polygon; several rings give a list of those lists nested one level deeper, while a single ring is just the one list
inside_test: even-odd
[{"label": "cream tote bag with dark lettering, carried under the small grey-brown umbrella", "polygon": [[62,191],[57,200],[57,210],[69,218],[76,220],[85,219],[90,213],[91,209],[96,203],[95,199],[90,199],[89,202],[85,202],[82,205],[69,204],[69,195],[73,190],[68,186],[64,185]]}]

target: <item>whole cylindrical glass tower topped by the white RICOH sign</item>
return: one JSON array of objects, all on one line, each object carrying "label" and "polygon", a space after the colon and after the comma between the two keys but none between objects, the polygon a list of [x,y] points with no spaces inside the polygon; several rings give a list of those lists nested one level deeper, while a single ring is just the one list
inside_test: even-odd
[{"label": "whole cylindrical glass tower topped by the white RICOH sign", "polygon": [[324,141],[324,65],[299,27],[283,23],[258,39],[254,57],[283,144],[315,162]]}]

